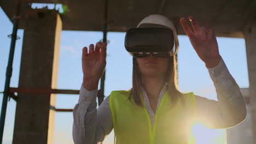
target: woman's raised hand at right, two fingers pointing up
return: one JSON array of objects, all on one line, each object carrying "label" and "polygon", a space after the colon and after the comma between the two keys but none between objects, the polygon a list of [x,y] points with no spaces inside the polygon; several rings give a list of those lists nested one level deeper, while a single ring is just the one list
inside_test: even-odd
[{"label": "woman's raised hand at right, two fingers pointing up", "polygon": [[180,19],[181,25],[197,55],[205,62],[207,68],[216,67],[220,62],[221,56],[219,55],[218,43],[213,30],[205,26],[200,27],[192,16],[189,16],[189,20],[194,32],[191,31],[184,17]]}]

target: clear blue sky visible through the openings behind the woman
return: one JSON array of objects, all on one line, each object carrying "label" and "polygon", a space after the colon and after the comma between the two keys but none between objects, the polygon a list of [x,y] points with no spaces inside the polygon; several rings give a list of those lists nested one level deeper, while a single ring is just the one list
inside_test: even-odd
[{"label": "clear blue sky visible through the openings behind the woman", "polygon": [[[3,92],[5,82],[5,72],[8,62],[10,39],[13,25],[0,8],[0,92]],[[13,75],[10,87],[18,87],[19,69],[22,49],[23,30],[19,29],[16,41]],[[82,84],[82,48],[90,44],[96,44],[103,37],[102,32],[89,31],[62,31],[60,61],[59,61],[59,89],[79,89]],[[106,81],[105,92],[107,96],[111,91],[131,88],[132,77],[132,57],[124,48],[125,33],[109,32],[107,39],[110,40],[107,50]],[[178,82],[182,92],[194,92],[197,95],[208,99],[217,100],[213,82],[208,74],[205,64],[197,56],[187,35],[178,36],[180,47],[178,51]],[[220,55],[223,57],[231,75],[238,85],[248,87],[248,71],[245,40],[238,38],[217,38]],[[100,87],[98,87],[100,88]],[[0,94],[2,104],[3,94]],[[78,101],[78,95],[58,94],[56,107],[60,109],[73,109]],[[7,106],[7,116],[4,127],[4,144],[10,144],[13,137],[14,117],[16,102],[10,100]],[[1,108],[0,108],[1,109]],[[57,112],[55,119],[54,143],[73,143],[72,141],[71,112]],[[203,133],[223,136],[225,130],[209,130],[201,128]],[[112,143],[113,132],[107,137],[104,143]],[[204,140],[201,140],[204,141]],[[205,140],[206,141],[206,140]]]}]

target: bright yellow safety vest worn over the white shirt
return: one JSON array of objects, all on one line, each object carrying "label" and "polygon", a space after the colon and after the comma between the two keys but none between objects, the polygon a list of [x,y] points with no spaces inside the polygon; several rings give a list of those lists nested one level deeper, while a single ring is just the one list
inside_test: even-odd
[{"label": "bright yellow safety vest worn over the white shirt", "polygon": [[[130,90],[131,91],[131,90]],[[170,109],[168,92],[162,97],[152,126],[141,96],[143,107],[129,99],[130,91],[112,91],[109,105],[117,144],[188,144],[196,109],[193,92],[184,94],[185,105],[178,101]]]}]

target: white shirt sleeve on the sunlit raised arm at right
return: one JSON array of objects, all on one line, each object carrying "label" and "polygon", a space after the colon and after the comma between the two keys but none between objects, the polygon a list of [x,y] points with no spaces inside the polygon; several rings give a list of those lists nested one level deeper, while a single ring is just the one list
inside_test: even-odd
[{"label": "white shirt sleeve on the sunlit raised arm at right", "polygon": [[216,88],[216,100],[196,95],[196,121],[208,128],[229,128],[246,118],[246,104],[240,87],[229,73],[223,58],[208,72]]}]

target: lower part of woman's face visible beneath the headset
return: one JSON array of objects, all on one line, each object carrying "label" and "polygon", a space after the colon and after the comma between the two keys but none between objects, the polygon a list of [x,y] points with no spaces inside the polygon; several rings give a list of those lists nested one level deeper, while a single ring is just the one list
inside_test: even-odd
[{"label": "lower part of woman's face visible beneath the headset", "polygon": [[168,57],[148,56],[137,58],[139,71],[143,76],[165,76],[168,68]]}]

